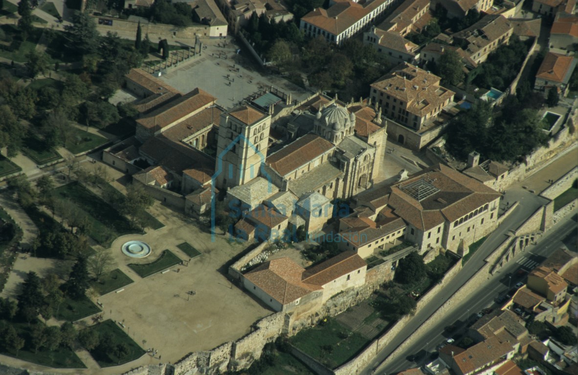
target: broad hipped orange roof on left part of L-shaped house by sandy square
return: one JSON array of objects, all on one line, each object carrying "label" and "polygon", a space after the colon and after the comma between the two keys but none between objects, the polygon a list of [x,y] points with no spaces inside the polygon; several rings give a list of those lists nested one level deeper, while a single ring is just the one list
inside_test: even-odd
[{"label": "broad hipped orange roof on left part of L-shaped house by sandy square", "polygon": [[319,286],[301,282],[301,275],[305,268],[290,258],[264,262],[259,267],[244,274],[247,280],[261,288],[275,301],[286,305],[309,294],[321,290]]}]

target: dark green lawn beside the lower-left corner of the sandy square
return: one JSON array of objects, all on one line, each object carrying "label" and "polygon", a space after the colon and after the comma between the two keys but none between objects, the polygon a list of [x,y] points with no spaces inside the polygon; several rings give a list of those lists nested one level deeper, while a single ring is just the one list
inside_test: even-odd
[{"label": "dark green lawn beside the lower-left corner of the sandy square", "polygon": [[[122,363],[131,362],[142,357],[145,353],[145,351],[142,350],[142,348],[138,346],[138,344],[135,343],[135,341],[131,339],[122,328],[118,327],[118,325],[110,319],[86,329],[94,329],[94,331],[98,332],[99,337],[103,337],[107,334],[112,337],[112,343],[108,347],[108,350],[105,351],[97,347],[90,351],[92,358],[94,358],[101,367],[118,366]],[[128,353],[120,358],[117,357],[114,350],[114,348],[119,344],[126,344],[128,348]]]}]

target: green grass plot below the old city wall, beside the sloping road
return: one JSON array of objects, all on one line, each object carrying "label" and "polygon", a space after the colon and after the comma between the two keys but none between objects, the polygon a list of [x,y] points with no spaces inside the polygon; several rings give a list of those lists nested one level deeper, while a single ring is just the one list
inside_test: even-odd
[{"label": "green grass plot below the old city wall, beside the sloping road", "polygon": [[338,321],[328,319],[324,325],[303,329],[291,343],[313,358],[334,369],[362,350],[370,340],[350,332]]}]

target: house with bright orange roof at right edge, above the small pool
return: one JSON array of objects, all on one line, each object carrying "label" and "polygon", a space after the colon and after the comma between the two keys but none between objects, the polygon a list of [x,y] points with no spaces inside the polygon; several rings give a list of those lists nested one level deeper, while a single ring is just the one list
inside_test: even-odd
[{"label": "house with bright orange roof at right edge, above the small pool", "polygon": [[543,93],[544,96],[547,96],[551,89],[557,90],[561,96],[566,96],[570,76],[576,69],[576,63],[578,59],[575,57],[547,52],[536,73],[534,89]]}]

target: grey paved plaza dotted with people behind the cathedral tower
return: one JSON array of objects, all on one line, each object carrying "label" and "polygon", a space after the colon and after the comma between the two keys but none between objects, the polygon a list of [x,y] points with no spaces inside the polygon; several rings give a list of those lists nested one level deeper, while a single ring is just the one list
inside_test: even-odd
[{"label": "grey paved plaza dotted with people behind the cathedral tower", "polygon": [[217,98],[217,103],[225,109],[271,86],[291,92],[294,100],[303,100],[310,95],[284,78],[252,69],[247,61],[249,57],[243,55],[246,50],[236,54],[239,46],[231,42],[231,38],[226,40],[210,41],[201,55],[169,69],[160,79],[184,93],[201,88]]}]

